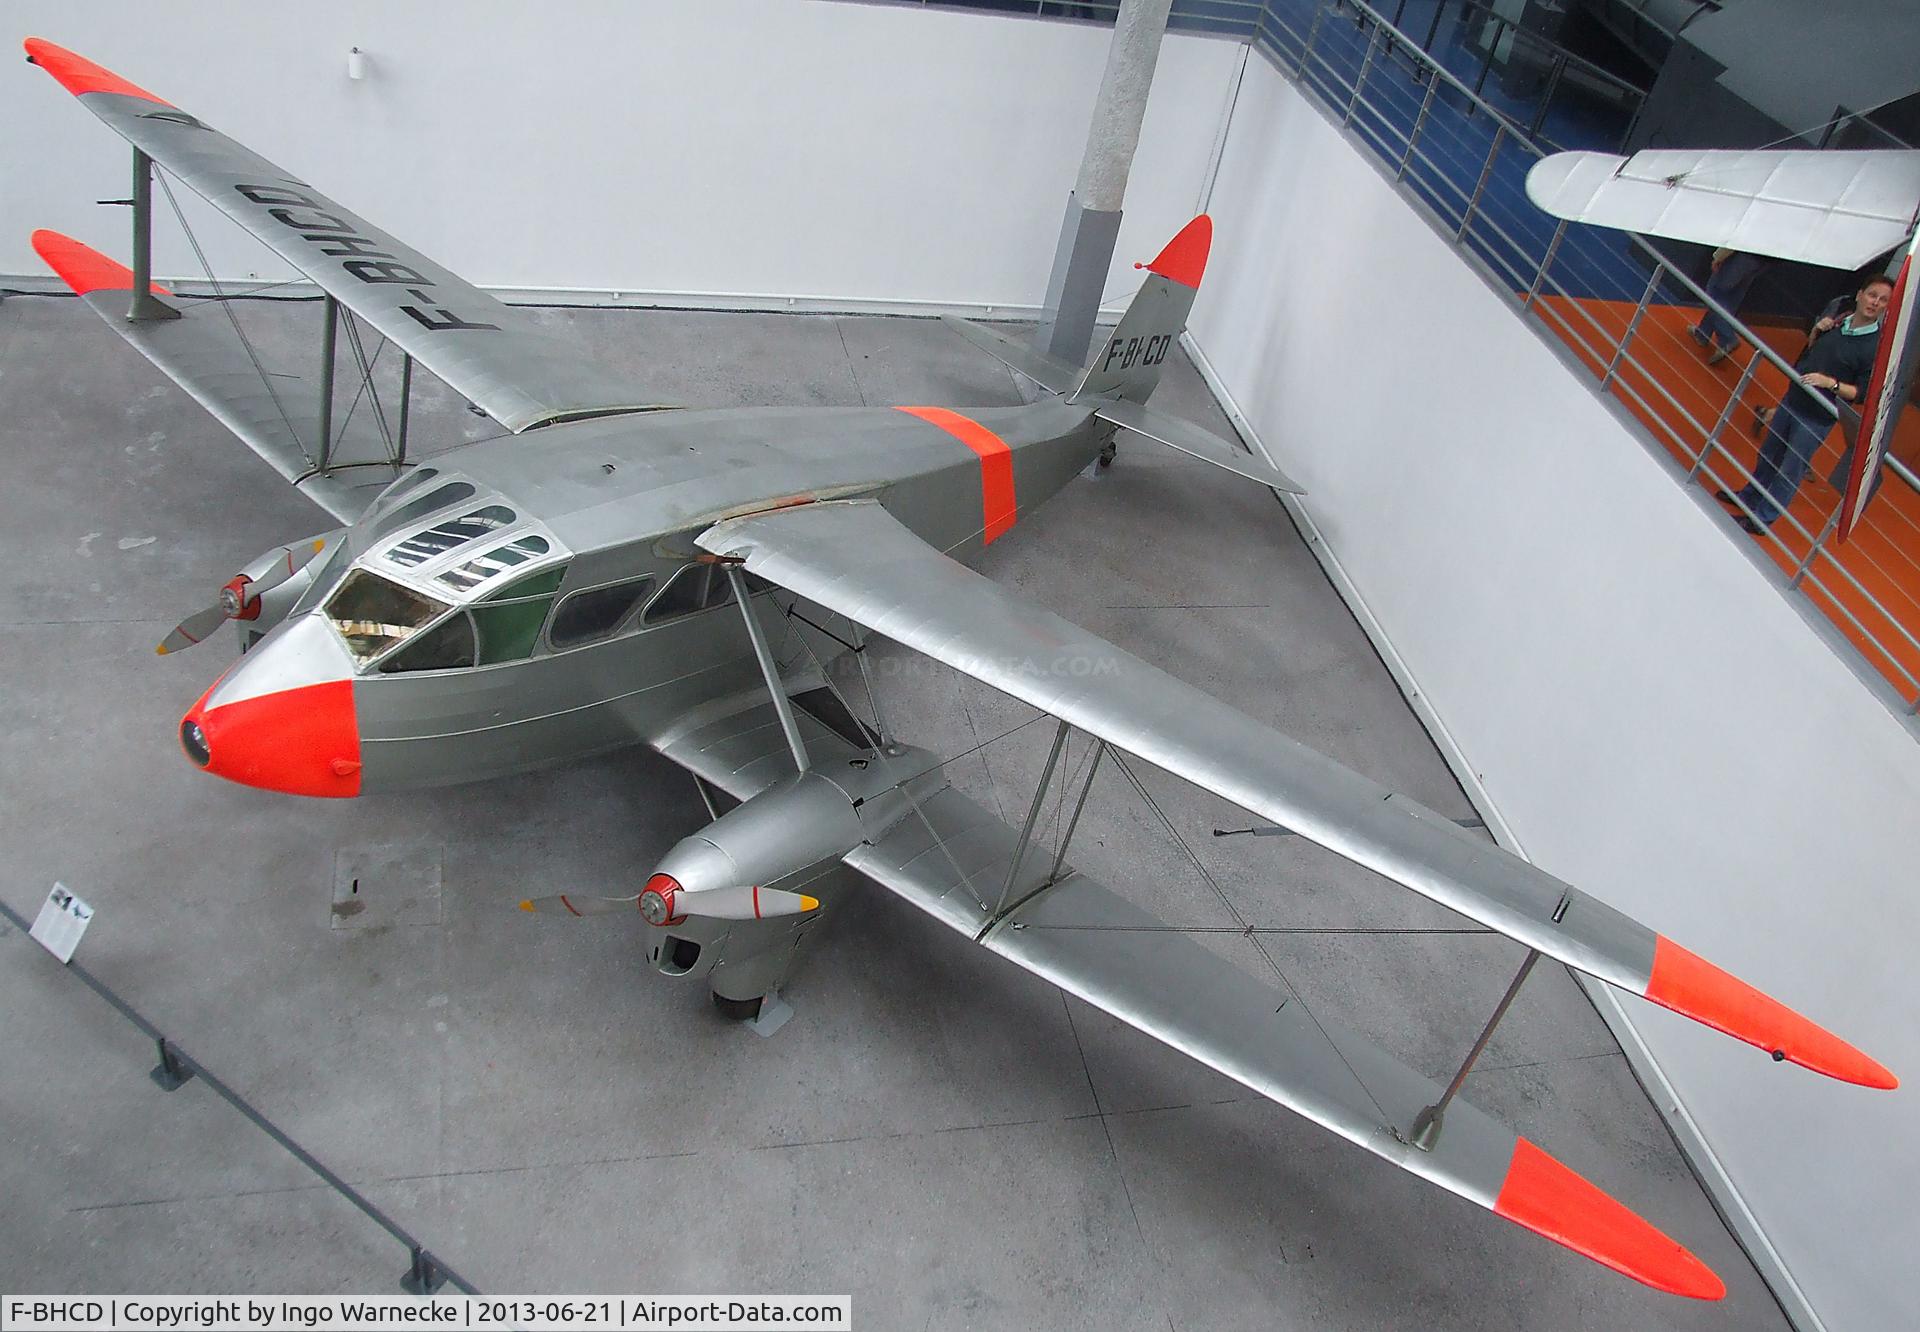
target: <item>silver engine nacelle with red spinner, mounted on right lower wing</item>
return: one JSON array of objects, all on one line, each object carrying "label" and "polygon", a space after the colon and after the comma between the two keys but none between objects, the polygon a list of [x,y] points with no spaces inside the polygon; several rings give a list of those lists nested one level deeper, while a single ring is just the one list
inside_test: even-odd
[{"label": "silver engine nacelle with red spinner, mounted on right lower wing", "polygon": [[[655,925],[674,925],[699,894],[766,889],[824,860],[839,860],[885,837],[912,812],[908,789],[918,795],[918,787],[931,789],[939,779],[939,758],[908,745],[889,745],[881,758],[808,768],[680,841],[647,881],[639,910]],[[791,896],[774,894],[768,910],[753,916],[795,910],[785,902]]]}]

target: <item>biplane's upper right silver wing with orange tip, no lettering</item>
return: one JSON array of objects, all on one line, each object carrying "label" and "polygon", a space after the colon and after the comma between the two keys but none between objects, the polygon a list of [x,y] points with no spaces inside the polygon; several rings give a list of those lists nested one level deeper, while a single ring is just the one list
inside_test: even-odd
[{"label": "biplane's upper right silver wing with orange tip, no lettering", "polygon": [[1880,1063],[1630,916],[1265,727],[1106,639],[1027,607],[874,501],[799,505],[697,537],[837,610],[1348,860],[1655,1004],[1809,1069]]}]

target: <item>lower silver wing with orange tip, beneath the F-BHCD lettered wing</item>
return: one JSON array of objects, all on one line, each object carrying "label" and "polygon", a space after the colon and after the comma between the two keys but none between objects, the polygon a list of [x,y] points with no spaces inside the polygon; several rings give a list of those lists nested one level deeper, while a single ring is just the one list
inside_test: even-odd
[{"label": "lower silver wing with orange tip, beneath the F-BHCD lettered wing", "polygon": [[113,332],[340,522],[359,518],[399,476],[371,411],[336,418],[323,472],[319,380],[265,372],[221,301],[175,297],[179,319],[127,319],[127,265],[50,230],[36,230],[33,248]]}]

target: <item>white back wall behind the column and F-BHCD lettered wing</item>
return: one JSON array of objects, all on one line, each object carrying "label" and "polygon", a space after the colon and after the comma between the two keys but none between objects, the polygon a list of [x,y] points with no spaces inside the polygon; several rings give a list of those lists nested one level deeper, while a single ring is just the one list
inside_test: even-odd
[{"label": "white back wall behind the column and F-BHCD lettered wing", "polygon": [[[6,19],[12,50],[44,36],[113,69],[480,286],[837,305],[1037,305],[1108,46],[797,0],[12,0]],[[1165,42],[1112,288],[1196,211],[1238,63]],[[0,273],[44,273],[36,226],[125,259],[125,209],[92,200],[127,194],[127,163],[44,71],[0,59]],[[221,276],[294,276],[194,219]],[[156,273],[202,269],[157,240]]]}]

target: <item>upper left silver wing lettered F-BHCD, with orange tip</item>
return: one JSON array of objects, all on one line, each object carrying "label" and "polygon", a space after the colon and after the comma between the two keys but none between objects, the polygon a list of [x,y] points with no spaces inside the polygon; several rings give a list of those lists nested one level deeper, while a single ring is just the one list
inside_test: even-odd
[{"label": "upper left silver wing lettered F-BHCD, with orange tip", "polygon": [[572,340],[541,332],[186,111],[36,36],[27,59],[509,430],[651,407]]}]

